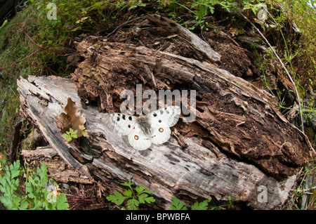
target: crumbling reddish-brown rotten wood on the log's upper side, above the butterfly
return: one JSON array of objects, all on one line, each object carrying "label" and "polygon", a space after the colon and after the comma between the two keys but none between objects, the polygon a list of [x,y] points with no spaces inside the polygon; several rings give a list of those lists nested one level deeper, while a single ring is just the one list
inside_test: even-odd
[{"label": "crumbling reddish-brown rotten wood on the log's upper side, above the butterfly", "polygon": [[[99,111],[117,112],[120,94],[136,84],[147,89],[197,90],[192,123],[179,123],[183,136],[200,136],[203,145],[250,159],[276,178],[293,175],[310,157],[306,136],[277,109],[269,93],[215,65],[143,46],[84,39],[77,55],[86,58],[72,74],[84,100],[96,100]],[[93,60],[93,62],[91,62]],[[154,74],[154,86],[144,74]]]}]

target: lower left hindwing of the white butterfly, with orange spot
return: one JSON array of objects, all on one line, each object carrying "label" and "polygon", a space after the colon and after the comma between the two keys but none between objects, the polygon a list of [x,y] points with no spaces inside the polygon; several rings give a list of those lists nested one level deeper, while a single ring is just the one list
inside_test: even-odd
[{"label": "lower left hindwing of the white butterfly, with orange spot", "polygon": [[129,144],[136,150],[147,150],[152,145],[152,141],[141,131],[139,124],[129,133]]}]

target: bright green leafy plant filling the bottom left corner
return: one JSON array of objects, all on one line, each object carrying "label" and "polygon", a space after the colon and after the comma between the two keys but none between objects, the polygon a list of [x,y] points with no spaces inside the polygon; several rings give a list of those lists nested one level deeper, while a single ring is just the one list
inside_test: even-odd
[{"label": "bright green leafy plant filling the bottom left corner", "polygon": [[8,209],[68,209],[65,194],[52,197],[51,190],[47,189],[48,176],[44,162],[41,167],[37,167],[37,172],[27,171],[25,191],[19,187],[20,161],[14,162],[10,167],[6,166],[5,171],[6,173],[0,175],[0,191],[4,194],[0,201]]}]

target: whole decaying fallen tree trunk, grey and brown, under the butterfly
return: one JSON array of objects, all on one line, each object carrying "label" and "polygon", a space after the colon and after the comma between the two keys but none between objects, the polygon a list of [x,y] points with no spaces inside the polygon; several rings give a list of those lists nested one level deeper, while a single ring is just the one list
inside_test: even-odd
[{"label": "whole decaying fallen tree trunk, grey and brown, under the butterfly", "polygon": [[[159,22],[164,29],[157,29]],[[110,192],[123,181],[143,184],[157,198],[157,208],[168,208],[166,202],[174,196],[190,204],[197,198],[227,200],[230,196],[255,209],[274,209],[284,203],[295,174],[308,162],[310,147],[305,136],[279,113],[272,95],[218,69],[220,56],[210,58],[203,53],[203,47],[197,47],[203,46],[197,44],[202,40],[183,34],[184,28],[178,29],[174,22],[147,18],[138,27],[133,29],[133,34],[138,30],[138,37],[140,30],[155,34],[164,30],[166,41],[180,37],[167,48],[166,42],[160,43],[161,49],[170,50],[179,42],[195,53],[189,58],[182,55],[184,51],[175,54],[85,37],[70,57],[77,66],[73,81],[59,77],[18,80],[24,117],[78,172],[75,176],[87,182],[102,180]],[[176,36],[168,36],[168,30]],[[196,90],[196,105],[190,109],[195,121],[185,123],[182,117],[173,129],[174,137],[145,152],[126,145],[121,136],[107,130],[103,117],[104,112],[119,112],[121,92],[136,93],[136,84],[143,84],[143,91]],[[90,130],[79,146],[67,143],[57,124],[68,98],[82,110]],[[184,104],[185,99],[181,100]],[[82,106],[83,101],[90,103]]]}]

